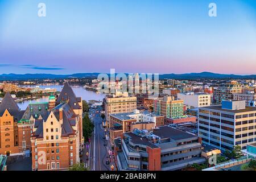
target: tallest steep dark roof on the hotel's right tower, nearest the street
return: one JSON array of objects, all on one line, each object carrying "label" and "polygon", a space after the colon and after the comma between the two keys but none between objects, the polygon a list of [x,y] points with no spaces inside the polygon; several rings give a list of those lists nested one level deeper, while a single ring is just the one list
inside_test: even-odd
[{"label": "tallest steep dark roof on the hotel's right tower, nearest the street", "polygon": [[73,92],[73,89],[68,84],[68,82],[65,82],[63,89],[61,90],[60,96],[57,99],[57,104],[60,104],[61,101],[67,101],[69,100],[69,105],[72,107],[72,109],[80,109],[80,106],[77,102],[77,97],[75,93]]}]

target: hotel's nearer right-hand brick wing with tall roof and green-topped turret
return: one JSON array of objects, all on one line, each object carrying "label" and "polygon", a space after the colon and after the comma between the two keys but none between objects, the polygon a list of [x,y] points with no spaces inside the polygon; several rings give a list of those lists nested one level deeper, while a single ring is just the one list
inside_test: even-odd
[{"label": "hotel's nearer right-hand brick wing with tall roof and green-topped turret", "polygon": [[[28,106],[28,118],[34,119],[31,137],[32,170],[67,170],[79,163],[82,137],[82,100],[68,82],[60,96],[49,102]],[[36,110],[36,111],[35,111]],[[42,162],[42,155],[46,158]]]}]

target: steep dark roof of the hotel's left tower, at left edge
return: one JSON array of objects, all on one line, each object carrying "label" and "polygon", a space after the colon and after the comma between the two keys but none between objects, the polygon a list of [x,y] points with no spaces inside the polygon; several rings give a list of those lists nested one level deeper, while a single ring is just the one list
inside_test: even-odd
[{"label": "steep dark roof of the hotel's left tower, at left edge", "polygon": [[5,113],[5,110],[8,110],[9,113],[13,116],[16,116],[19,114],[19,106],[14,101],[13,97],[11,97],[11,94],[7,92],[5,94],[5,97],[3,97],[3,100],[0,104],[0,115],[2,116],[3,113]]}]

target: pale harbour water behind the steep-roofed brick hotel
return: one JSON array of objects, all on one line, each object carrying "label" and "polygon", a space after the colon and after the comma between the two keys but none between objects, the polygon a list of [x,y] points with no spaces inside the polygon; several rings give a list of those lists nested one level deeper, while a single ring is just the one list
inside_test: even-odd
[{"label": "pale harbour water behind the steep-roofed brick hotel", "polygon": [[[45,89],[45,88],[56,89],[59,92],[63,88],[63,85],[38,85],[38,86],[42,89]],[[26,86],[26,87],[35,87],[35,86]],[[85,101],[89,101],[89,100],[102,101],[102,99],[105,97],[105,94],[96,93],[90,90],[85,90],[84,88],[82,88],[82,86],[72,87],[72,89],[76,94],[76,97],[82,97],[82,100],[85,100]],[[36,102],[48,102],[48,96],[43,96],[42,98],[38,98],[35,100],[19,102],[18,106],[21,110],[25,110],[28,104],[36,103]]]}]

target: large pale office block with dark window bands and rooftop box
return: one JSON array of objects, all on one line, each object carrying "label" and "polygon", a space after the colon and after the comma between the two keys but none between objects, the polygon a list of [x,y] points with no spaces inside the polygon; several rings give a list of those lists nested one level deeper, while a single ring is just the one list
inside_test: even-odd
[{"label": "large pale office block with dark window bands and rooftop box", "polygon": [[246,149],[255,142],[256,107],[245,101],[222,101],[222,105],[199,108],[199,137],[220,150]]}]

